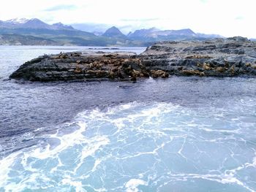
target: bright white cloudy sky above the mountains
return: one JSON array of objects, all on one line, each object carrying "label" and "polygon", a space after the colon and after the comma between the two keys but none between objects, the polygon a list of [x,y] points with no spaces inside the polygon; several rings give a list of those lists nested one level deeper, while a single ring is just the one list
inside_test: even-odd
[{"label": "bright white cloudy sky above the mountains", "polygon": [[45,23],[140,28],[191,28],[204,34],[256,38],[255,0],[8,0],[0,20],[39,18]]}]

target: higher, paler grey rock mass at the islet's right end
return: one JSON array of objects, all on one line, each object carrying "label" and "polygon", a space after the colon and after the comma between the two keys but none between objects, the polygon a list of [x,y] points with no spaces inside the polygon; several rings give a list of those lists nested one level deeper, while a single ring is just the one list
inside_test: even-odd
[{"label": "higher, paler grey rock mass at the islet's right end", "polygon": [[176,75],[256,75],[256,42],[243,37],[159,42],[140,55],[146,68]]}]

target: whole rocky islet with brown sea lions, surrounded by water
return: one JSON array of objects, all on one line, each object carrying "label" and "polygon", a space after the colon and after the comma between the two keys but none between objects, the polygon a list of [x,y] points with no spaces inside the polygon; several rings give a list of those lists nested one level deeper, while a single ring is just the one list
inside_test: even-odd
[{"label": "whole rocky islet with brown sea lions, surrounded by water", "polygon": [[256,75],[256,42],[243,37],[159,42],[133,53],[60,53],[26,62],[16,80],[132,80],[170,75],[233,77]]}]

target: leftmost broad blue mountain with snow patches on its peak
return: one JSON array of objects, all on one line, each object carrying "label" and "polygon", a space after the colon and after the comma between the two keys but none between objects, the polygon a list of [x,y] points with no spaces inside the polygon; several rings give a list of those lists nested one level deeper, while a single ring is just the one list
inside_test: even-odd
[{"label": "leftmost broad blue mountain with snow patches on its peak", "polygon": [[37,18],[0,21],[0,39],[0,45],[106,45],[92,33]]}]

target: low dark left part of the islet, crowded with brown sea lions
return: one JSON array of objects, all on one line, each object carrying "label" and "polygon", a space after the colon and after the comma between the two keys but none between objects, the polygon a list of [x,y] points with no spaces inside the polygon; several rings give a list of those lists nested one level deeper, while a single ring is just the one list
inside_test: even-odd
[{"label": "low dark left part of the islet, crowded with brown sea lions", "polygon": [[[26,62],[10,78],[29,81],[132,80],[151,74],[135,55],[60,53]],[[154,77],[167,75],[156,74]]]}]

